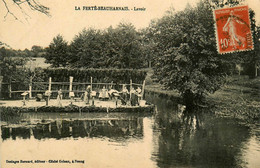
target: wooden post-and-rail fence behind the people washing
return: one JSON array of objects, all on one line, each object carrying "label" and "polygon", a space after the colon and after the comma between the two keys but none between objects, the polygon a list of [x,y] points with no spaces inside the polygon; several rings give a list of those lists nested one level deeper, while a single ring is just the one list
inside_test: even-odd
[{"label": "wooden post-and-rail fence behind the people washing", "polygon": [[28,93],[29,98],[33,98],[38,93],[44,93],[46,90],[51,91],[51,97],[56,97],[60,89],[62,89],[64,97],[67,98],[70,92],[74,92],[75,97],[80,97],[86,91],[88,85],[90,85],[91,91],[94,90],[97,92],[99,92],[103,86],[107,89],[113,88],[118,91],[122,89],[123,85],[127,86],[129,90],[140,87],[142,89],[141,95],[143,98],[145,80],[142,84],[134,83],[132,79],[130,79],[129,83],[124,84],[113,83],[113,81],[111,83],[93,83],[93,78],[90,77],[90,82],[73,82],[73,77],[71,76],[69,77],[69,82],[53,82],[52,78],[49,77],[48,82],[33,82],[32,79],[30,79],[28,89],[25,90],[12,90],[12,83],[2,83],[0,88],[2,89],[2,93],[4,93],[4,95],[1,95],[1,98],[19,98],[22,97],[21,94],[24,92]]}]

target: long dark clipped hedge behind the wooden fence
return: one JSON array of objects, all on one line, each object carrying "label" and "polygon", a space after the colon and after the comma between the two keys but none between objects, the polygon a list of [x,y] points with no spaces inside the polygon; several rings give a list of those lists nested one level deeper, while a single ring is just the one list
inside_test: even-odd
[{"label": "long dark clipped hedge behind the wooden fence", "polygon": [[[39,68],[40,69],[40,68]],[[40,72],[40,70],[39,70]],[[52,77],[56,82],[68,82],[69,77],[73,76],[75,82],[90,82],[90,77],[93,82],[114,82],[114,83],[129,83],[132,79],[135,83],[142,83],[146,77],[146,71],[137,69],[68,69],[68,68],[47,68],[42,69],[41,73],[44,81],[48,81]]]}]

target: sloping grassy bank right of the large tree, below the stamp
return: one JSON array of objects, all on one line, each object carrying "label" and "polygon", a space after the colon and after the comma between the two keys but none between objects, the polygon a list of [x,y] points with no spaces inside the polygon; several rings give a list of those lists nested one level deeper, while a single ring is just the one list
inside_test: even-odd
[{"label": "sloping grassy bank right of the large tree, below the stamp", "polygon": [[207,97],[218,115],[233,116],[250,122],[260,120],[260,77],[233,76],[226,85]]}]

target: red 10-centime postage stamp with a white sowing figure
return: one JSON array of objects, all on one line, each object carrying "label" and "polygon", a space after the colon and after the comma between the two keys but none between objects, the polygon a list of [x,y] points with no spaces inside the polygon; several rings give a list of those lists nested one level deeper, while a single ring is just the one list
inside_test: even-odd
[{"label": "red 10-centime postage stamp with a white sowing figure", "polygon": [[253,49],[248,6],[216,9],[214,17],[219,53]]}]

